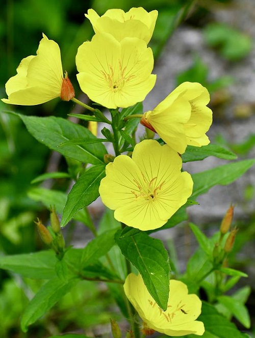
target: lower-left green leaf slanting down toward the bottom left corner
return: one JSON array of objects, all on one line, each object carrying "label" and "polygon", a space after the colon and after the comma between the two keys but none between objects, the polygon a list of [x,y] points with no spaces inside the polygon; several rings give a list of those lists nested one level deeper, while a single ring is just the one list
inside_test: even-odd
[{"label": "lower-left green leaf slanting down toward the bottom left corner", "polygon": [[77,281],[55,277],[44,284],[23,313],[20,323],[22,331],[27,332],[28,326],[49,311]]}]

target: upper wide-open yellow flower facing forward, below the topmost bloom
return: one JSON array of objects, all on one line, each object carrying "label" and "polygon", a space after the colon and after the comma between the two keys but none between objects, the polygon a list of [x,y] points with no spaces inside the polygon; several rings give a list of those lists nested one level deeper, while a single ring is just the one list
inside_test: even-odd
[{"label": "upper wide-open yellow flower facing forward, below the topmost bloom", "polygon": [[110,34],[95,34],[79,47],[76,64],[82,91],[107,108],[143,101],[156,81],[152,51],[137,38],[119,42]]}]

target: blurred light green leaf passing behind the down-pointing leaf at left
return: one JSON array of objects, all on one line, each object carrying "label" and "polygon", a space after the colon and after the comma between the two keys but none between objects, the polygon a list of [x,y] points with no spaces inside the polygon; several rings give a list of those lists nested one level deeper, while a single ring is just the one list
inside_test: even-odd
[{"label": "blurred light green leaf passing behind the down-pointing leaf at left", "polygon": [[[66,193],[45,188],[32,188],[28,191],[28,195],[31,200],[43,203],[48,209],[50,206],[55,206],[57,213],[61,215],[67,201]],[[94,228],[86,208],[79,210],[73,218],[86,224],[89,229]]]}]

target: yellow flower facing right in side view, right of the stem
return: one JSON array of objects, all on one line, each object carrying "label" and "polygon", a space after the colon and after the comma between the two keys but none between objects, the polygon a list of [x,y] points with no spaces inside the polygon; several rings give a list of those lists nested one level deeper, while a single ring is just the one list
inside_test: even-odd
[{"label": "yellow flower facing right in side view, right of the stem", "polygon": [[201,147],[210,143],[205,134],[212,124],[208,90],[197,82],[184,82],[141,120],[156,131],[171,148],[183,154],[187,145]]}]

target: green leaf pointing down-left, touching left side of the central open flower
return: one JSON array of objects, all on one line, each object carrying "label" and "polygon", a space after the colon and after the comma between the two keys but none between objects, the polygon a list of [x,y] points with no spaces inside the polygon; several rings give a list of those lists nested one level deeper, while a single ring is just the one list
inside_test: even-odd
[{"label": "green leaf pointing down-left, touching left side of the central open flower", "polygon": [[79,177],[67,196],[67,202],[60,224],[61,227],[64,227],[80,209],[87,207],[98,198],[98,188],[101,179],[103,179],[105,175],[105,164],[102,164],[88,168],[88,170]]}]

